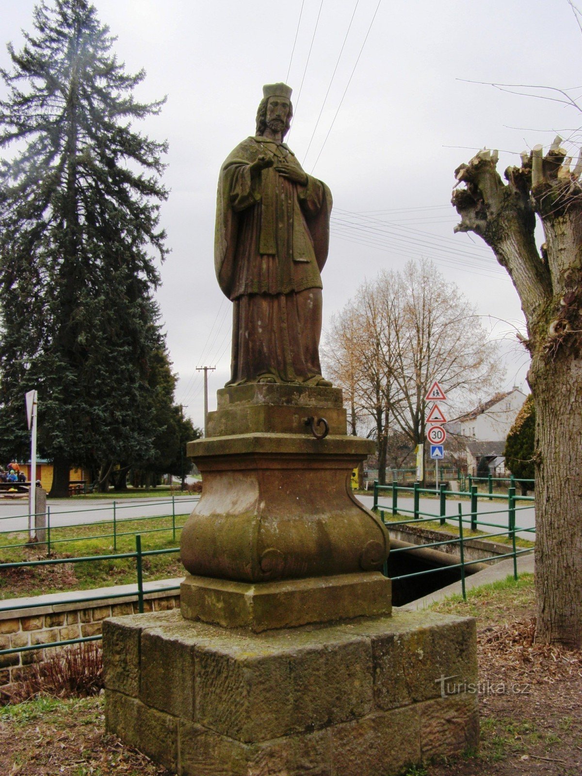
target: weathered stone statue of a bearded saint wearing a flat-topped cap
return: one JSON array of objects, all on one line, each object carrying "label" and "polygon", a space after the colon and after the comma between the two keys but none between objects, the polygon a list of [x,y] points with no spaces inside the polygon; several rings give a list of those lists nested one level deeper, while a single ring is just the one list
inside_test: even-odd
[{"label": "weathered stone statue of a bearded saint wearing a flat-topped cap", "polygon": [[283,143],[290,98],[285,84],[263,87],[255,137],[220,170],[214,260],[234,303],[228,385],[331,385],[319,359],[331,192]]}]

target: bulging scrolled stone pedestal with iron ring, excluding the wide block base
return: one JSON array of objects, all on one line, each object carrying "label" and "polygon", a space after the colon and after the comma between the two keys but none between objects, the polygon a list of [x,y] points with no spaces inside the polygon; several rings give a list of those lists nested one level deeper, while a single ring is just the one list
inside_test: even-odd
[{"label": "bulging scrolled stone pedestal with iron ring, excluding the wide block base", "polygon": [[[329,435],[315,438],[309,418],[324,418]],[[196,578],[182,587],[182,614],[254,630],[389,614],[390,582],[377,573],[386,529],[350,484],[374,445],[346,434],[341,390],[232,386],[218,391],[207,425],[188,446],[203,493],[182,530],[182,563]],[[227,580],[238,586],[227,592]]]}]

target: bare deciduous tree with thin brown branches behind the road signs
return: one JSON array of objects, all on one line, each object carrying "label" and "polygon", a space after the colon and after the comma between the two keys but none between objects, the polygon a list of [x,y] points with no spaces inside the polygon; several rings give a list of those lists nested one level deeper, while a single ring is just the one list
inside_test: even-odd
[{"label": "bare deciduous tree with thin brown branches behind the road signs", "polygon": [[373,423],[380,483],[390,433],[404,433],[413,447],[424,441],[424,397],[433,380],[462,404],[502,372],[497,345],[466,297],[428,261],[365,282],[332,320],[324,360],[352,417]]}]

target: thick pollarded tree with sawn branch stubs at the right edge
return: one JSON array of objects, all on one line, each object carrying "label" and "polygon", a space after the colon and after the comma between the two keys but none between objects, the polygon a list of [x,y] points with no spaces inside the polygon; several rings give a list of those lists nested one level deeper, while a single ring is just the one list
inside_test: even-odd
[{"label": "thick pollarded tree with sawn branch stubs at the right edge", "polygon": [[[493,248],[521,300],[535,404],[536,638],[582,646],[582,172],[570,172],[560,140],[536,146],[497,174],[497,152],[456,170],[457,231]],[[535,246],[535,218],[546,243]]]}]

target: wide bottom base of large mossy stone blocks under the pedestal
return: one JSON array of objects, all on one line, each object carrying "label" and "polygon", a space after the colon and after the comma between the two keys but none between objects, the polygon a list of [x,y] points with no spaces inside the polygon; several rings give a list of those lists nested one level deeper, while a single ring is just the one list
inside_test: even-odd
[{"label": "wide bottom base of large mossy stone blocks under the pedestal", "polygon": [[178,612],[106,620],[106,726],[182,776],[390,776],[478,740],[472,618],[252,633]]}]

